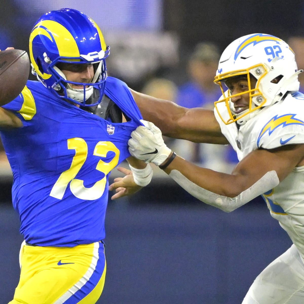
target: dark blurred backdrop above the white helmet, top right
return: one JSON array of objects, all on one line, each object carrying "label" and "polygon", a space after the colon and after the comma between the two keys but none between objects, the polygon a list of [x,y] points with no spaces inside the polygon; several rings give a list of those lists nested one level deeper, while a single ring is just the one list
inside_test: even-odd
[{"label": "dark blurred backdrop above the white helmet, top right", "polygon": [[303,6],[294,1],[164,1],[164,28],[179,33],[185,46],[201,40],[223,50],[234,39],[250,33],[267,33],[287,40],[302,34]]}]

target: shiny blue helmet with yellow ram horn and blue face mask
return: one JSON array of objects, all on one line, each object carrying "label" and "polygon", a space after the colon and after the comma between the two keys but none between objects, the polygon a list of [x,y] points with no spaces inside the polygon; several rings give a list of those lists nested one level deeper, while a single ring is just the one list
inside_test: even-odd
[{"label": "shiny blue helmet with yellow ram horn and blue face mask", "polygon": [[[105,58],[109,55],[109,46],[90,17],[75,9],[47,12],[32,29],[29,54],[32,73],[58,97],[82,106],[97,105],[101,101],[107,78]],[[57,67],[59,63],[93,64],[92,83],[67,81]],[[83,86],[83,89],[72,88],[71,84]],[[99,91],[98,97],[88,102],[94,90]]]}]

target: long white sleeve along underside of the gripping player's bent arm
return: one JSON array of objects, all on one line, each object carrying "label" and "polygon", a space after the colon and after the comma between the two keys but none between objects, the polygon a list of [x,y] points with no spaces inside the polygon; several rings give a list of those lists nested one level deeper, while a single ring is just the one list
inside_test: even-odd
[{"label": "long white sleeve along underside of the gripping player's bent arm", "polygon": [[275,171],[269,171],[262,176],[251,187],[244,190],[236,197],[227,197],[208,191],[186,178],[178,170],[172,170],[169,174],[182,188],[200,201],[219,208],[225,212],[231,212],[247,202],[251,201],[258,195],[261,195],[279,184],[279,178]]}]

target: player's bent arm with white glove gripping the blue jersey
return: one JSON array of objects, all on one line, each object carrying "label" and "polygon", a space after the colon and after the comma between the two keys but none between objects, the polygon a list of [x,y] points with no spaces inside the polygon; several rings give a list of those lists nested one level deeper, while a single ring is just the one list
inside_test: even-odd
[{"label": "player's bent arm with white glove gripping the blue jersey", "polygon": [[[286,145],[272,150],[255,150],[240,161],[232,174],[220,173],[195,166],[178,156],[172,160],[172,152],[168,153],[164,148],[160,134],[151,123],[149,128],[138,127],[129,140],[130,153],[165,167],[164,171],[187,192],[226,212],[274,188],[296,166],[304,163],[304,144]],[[154,150],[158,152],[151,154]],[[161,162],[160,154],[167,159]]]}]

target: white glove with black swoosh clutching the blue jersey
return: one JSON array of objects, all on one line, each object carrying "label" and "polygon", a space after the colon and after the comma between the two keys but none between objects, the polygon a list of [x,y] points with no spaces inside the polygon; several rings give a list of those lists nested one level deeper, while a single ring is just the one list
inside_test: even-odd
[{"label": "white glove with black swoosh clutching the blue jersey", "polygon": [[145,126],[139,126],[131,133],[128,141],[129,152],[132,156],[146,162],[161,165],[170,155],[163,140],[161,130],[149,121],[141,120]]}]

